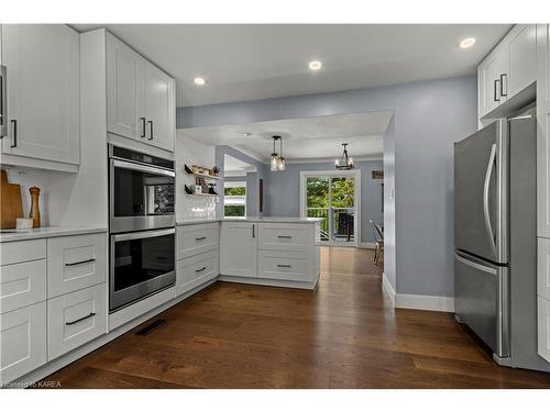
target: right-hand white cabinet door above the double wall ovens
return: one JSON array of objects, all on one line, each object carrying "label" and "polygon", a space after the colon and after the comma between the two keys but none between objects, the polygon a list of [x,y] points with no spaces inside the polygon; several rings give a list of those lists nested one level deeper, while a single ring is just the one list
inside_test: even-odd
[{"label": "right-hand white cabinet door above the double wall ovens", "polygon": [[150,144],[169,152],[174,152],[174,80],[151,63],[145,63],[146,138]]}]

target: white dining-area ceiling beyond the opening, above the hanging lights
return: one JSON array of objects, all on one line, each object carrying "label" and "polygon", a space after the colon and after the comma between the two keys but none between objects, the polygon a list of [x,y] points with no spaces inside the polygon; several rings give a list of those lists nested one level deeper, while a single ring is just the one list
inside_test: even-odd
[{"label": "white dining-area ceiling beyond the opening, above the hanging lights", "polygon": [[[342,153],[341,144],[345,142],[350,144],[350,155],[356,159],[380,158],[382,135],[392,115],[392,111],[334,114],[179,129],[178,134],[207,145],[230,145],[264,163],[273,152],[273,135],[282,136],[283,156],[289,160],[333,160]],[[277,143],[277,153],[278,149]]]}]

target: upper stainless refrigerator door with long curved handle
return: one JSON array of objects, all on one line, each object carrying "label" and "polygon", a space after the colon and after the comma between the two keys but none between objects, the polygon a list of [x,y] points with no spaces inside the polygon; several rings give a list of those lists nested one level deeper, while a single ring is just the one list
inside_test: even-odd
[{"label": "upper stainless refrigerator door with long curved handle", "polygon": [[454,144],[455,248],[506,264],[507,121],[498,120]]}]

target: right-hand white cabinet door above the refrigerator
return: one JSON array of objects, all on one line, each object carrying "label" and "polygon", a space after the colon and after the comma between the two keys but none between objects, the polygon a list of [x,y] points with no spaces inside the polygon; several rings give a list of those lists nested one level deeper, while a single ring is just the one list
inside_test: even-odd
[{"label": "right-hand white cabinet door above the refrigerator", "polygon": [[[508,43],[509,70],[503,83],[507,99],[524,90],[537,77],[537,29],[535,24],[514,27]],[[506,85],[507,83],[507,85]]]}]

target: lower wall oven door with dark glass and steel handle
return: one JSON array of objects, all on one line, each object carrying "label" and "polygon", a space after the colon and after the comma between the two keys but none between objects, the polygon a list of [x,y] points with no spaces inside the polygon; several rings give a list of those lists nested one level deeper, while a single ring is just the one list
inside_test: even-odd
[{"label": "lower wall oven door with dark glass and steel handle", "polygon": [[175,281],[175,229],[111,236],[111,311]]}]

